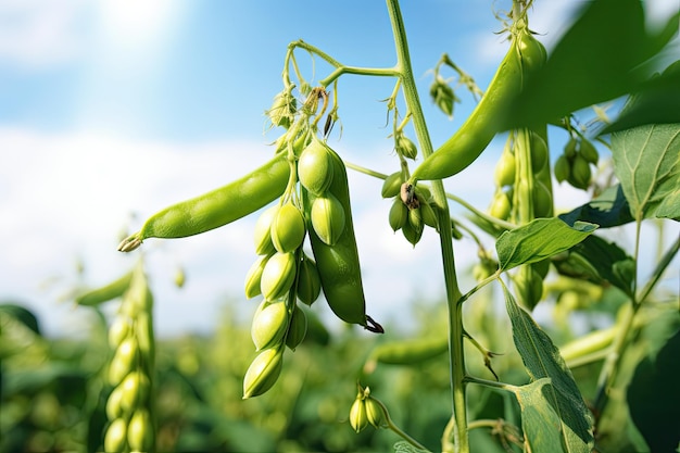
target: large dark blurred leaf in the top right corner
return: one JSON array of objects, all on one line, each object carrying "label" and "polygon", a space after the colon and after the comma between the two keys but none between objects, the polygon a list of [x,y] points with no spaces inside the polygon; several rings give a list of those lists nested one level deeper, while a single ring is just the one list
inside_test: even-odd
[{"label": "large dark blurred leaf in the top right corner", "polygon": [[[583,2],[577,20],[525,85],[506,114],[506,129],[545,124],[580,109],[645,88],[642,63],[678,32],[678,16],[645,29],[639,0]],[[616,20],[615,20],[616,17]]]}]

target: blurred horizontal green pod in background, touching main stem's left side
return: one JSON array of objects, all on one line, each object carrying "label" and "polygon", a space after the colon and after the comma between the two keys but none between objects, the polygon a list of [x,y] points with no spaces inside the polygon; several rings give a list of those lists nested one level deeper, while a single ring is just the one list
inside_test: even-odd
[{"label": "blurred horizontal green pod in background, touching main stem's left side", "polygon": [[449,350],[446,336],[417,338],[379,344],[370,353],[372,361],[390,365],[414,365]]}]

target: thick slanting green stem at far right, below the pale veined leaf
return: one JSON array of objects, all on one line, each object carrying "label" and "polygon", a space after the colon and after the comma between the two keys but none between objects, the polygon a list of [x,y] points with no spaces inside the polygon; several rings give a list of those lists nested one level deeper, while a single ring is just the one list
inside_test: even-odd
[{"label": "thick slanting green stem at far right, below the pale veined leaf", "polygon": [[[638,262],[638,250],[640,242],[640,223],[638,223],[638,231],[637,231],[637,243],[635,243],[635,263]],[[656,267],[654,268],[654,273],[652,274],[652,278],[647,281],[647,284],[640,291],[640,295],[634,298],[631,301],[628,310],[625,311],[622,318],[618,323],[619,327],[617,328],[616,337],[614,338],[614,342],[612,344],[612,351],[607,355],[605,363],[600,372],[600,378],[597,380],[597,390],[595,392],[595,402],[594,406],[599,412],[602,412],[607,404],[608,401],[608,392],[612,386],[616,382],[616,378],[618,376],[620,358],[626,352],[626,348],[628,348],[629,341],[634,331],[638,331],[641,327],[635,327],[634,320],[635,315],[638,314],[640,307],[644,304],[647,297],[652,293],[652,290],[662,278],[662,275],[671,263],[673,257],[680,251],[680,238],[676,239],[676,241],[670,246],[670,248],[664,253]],[[635,277],[637,279],[637,277]]]}]

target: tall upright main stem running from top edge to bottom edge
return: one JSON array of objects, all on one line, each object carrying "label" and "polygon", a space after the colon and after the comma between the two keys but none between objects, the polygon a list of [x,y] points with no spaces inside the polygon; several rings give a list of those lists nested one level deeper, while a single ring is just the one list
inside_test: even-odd
[{"label": "tall upright main stem running from top edge to bottom edge", "polygon": [[[420,106],[415,78],[411,67],[406,32],[398,0],[387,0],[387,8],[392,24],[392,35],[396,49],[396,68],[400,72],[404,89],[404,98],[411,114],[413,125],[420,144],[423,158],[427,159],[432,153],[432,142],[429,137],[425,115]],[[463,313],[458,304],[461,290],[455,273],[455,259],[453,253],[453,239],[451,231],[451,216],[449,203],[441,180],[432,183],[432,196],[437,204],[439,219],[439,238],[444,267],[444,285],[446,287],[446,303],[449,306],[449,364],[451,374],[452,405],[455,427],[453,429],[454,450],[459,453],[469,452],[467,437],[467,408],[465,399],[465,355],[463,351]]]}]

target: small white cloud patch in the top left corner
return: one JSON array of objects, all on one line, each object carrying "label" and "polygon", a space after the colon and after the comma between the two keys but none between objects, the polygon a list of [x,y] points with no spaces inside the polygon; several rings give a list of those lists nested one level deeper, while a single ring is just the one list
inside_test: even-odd
[{"label": "small white cloud patch in the top left corner", "polygon": [[72,61],[85,50],[91,13],[86,0],[0,2],[0,60],[25,68]]}]

